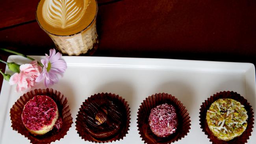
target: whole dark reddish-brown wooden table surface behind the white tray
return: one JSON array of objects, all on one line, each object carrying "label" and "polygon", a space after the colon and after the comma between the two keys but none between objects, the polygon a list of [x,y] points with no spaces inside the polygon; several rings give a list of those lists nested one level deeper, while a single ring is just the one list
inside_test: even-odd
[{"label": "whole dark reddish-brown wooden table surface behind the white tray", "polygon": [[[35,20],[38,2],[0,2],[0,47],[26,55],[55,47]],[[98,5],[100,44],[93,56],[256,64],[254,0],[98,0]],[[8,55],[0,52],[3,60]]]}]

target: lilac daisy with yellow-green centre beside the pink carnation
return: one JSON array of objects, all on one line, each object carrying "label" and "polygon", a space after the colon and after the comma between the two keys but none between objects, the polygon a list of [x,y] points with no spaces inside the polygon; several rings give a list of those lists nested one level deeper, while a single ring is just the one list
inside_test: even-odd
[{"label": "lilac daisy with yellow-green centre beside the pink carnation", "polygon": [[63,73],[67,69],[67,63],[63,60],[60,60],[61,54],[59,52],[56,53],[55,49],[50,49],[50,55],[45,54],[45,59],[41,59],[41,63],[43,64],[42,73],[35,79],[35,82],[42,81],[46,87],[48,85],[53,85],[57,83],[59,80],[59,75],[63,76]]}]

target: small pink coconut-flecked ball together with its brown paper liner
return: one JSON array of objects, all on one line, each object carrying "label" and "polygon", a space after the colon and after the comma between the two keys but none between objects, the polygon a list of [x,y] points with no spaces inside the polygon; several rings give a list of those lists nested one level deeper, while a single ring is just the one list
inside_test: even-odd
[{"label": "small pink coconut-flecked ball together with its brown paper liner", "polygon": [[137,127],[144,143],[171,144],[189,133],[189,113],[171,94],[152,94],[143,100],[138,110]]}]

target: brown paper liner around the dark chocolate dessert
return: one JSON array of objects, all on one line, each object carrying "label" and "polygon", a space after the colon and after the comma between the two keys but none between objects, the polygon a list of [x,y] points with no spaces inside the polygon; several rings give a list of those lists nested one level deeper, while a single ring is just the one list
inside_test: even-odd
[{"label": "brown paper liner around the dark chocolate dessert", "polygon": [[[90,135],[90,133],[85,129],[85,126],[86,126],[85,118],[87,114],[84,111],[84,109],[93,100],[106,99],[106,98],[109,100],[115,101],[121,105],[121,107],[124,109],[126,113],[126,122],[124,126],[122,126],[122,128],[119,130],[119,132],[116,133],[115,135],[110,136],[108,138],[99,139]],[[79,110],[80,111],[77,114],[77,118],[75,122],[76,130],[79,136],[82,137],[82,139],[84,139],[85,141],[96,142],[96,143],[112,142],[112,141],[123,139],[126,136],[126,134],[128,134],[128,130],[130,127],[130,108],[128,103],[119,95],[115,95],[111,93],[103,93],[103,92],[101,94],[100,93],[94,94],[91,97],[89,97],[87,100],[85,100],[85,102],[83,102]]]}]

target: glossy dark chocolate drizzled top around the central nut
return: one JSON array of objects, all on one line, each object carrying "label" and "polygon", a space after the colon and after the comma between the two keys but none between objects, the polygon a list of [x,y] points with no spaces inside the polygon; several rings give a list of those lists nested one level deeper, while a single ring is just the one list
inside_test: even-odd
[{"label": "glossy dark chocolate drizzled top around the central nut", "polygon": [[[102,108],[107,111],[107,114]],[[85,129],[96,138],[106,138],[115,135],[122,126],[122,107],[108,99],[98,99],[89,103],[85,107]],[[96,115],[99,115],[106,121],[97,124]]]}]

